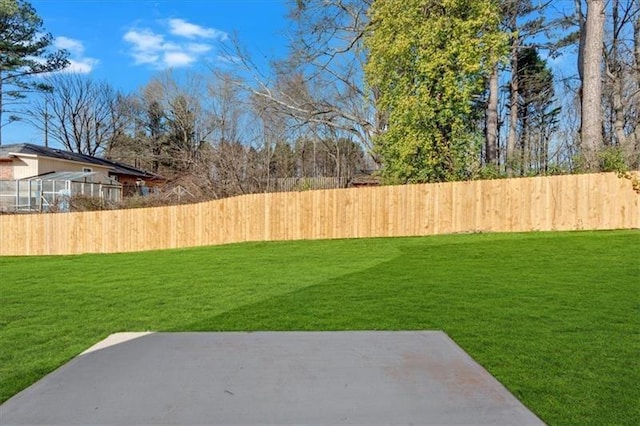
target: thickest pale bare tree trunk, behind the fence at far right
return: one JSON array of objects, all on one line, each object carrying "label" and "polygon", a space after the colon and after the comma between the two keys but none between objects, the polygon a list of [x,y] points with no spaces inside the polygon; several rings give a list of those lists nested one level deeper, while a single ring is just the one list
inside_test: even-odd
[{"label": "thickest pale bare tree trunk, behind the fence at far right", "polygon": [[602,147],[602,42],[604,0],[587,0],[582,55],[582,121],[580,143],[586,171],[598,170]]}]

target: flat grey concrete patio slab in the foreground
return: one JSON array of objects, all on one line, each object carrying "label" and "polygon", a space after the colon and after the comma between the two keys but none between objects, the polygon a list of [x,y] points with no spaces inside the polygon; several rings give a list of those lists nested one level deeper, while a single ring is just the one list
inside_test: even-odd
[{"label": "flat grey concrete patio slab in the foreground", "polygon": [[2,425],[542,424],[441,331],[119,333]]}]

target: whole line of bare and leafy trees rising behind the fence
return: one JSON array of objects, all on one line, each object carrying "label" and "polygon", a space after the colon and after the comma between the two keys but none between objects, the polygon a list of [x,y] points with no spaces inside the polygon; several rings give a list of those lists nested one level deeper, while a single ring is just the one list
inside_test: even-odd
[{"label": "whole line of bare and leafy trees rising behind the fence", "polygon": [[410,183],[637,169],[640,4],[558,4],[291,0],[288,55],[268,70],[236,40],[224,72],[164,71],[125,94],[51,73],[65,52],[26,1],[0,0],[0,121],[216,197],[359,170]]}]

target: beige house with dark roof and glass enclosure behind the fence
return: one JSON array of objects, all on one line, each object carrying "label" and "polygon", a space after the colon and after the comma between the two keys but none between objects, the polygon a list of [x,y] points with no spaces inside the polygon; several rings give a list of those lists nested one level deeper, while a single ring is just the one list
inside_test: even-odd
[{"label": "beige house with dark roof and glass enclosure behind the fence", "polygon": [[128,164],[29,143],[0,146],[0,208],[46,210],[61,197],[145,195],[166,179]]}]

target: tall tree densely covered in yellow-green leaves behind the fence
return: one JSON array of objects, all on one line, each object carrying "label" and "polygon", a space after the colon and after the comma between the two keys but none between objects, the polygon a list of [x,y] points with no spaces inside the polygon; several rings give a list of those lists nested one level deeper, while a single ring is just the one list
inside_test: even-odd
[{"label": "tall tree densely covered in yellow-green leaves behind the fence", "polygon": [[388,180],[468,177],[482,135],[473,104],[506,34],[492,0],[378,0],[370,9],[368,83],[388,129],[376,141]]}]

